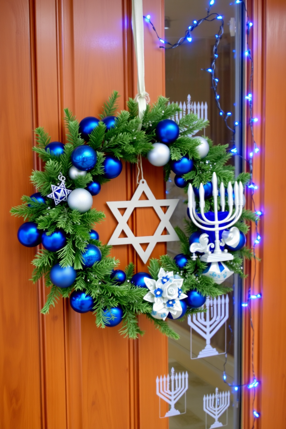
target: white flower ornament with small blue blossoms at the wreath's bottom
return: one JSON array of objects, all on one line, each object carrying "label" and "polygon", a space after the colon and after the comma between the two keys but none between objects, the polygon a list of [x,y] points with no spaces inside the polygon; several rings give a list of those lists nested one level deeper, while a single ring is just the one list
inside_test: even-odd
[{"label": "white flower ornament with small blue blossoms at the wreath's bottom", "polygon": [[172,271],[166,272],[160,268],[158,280],[144,277],[149,292],[144,296],[145,301],[153,302],[152,316],[165,320],[169,312],[174,316],[182,311],[180,299],[187,298],[182,293],[183,278],[174,278]]}]

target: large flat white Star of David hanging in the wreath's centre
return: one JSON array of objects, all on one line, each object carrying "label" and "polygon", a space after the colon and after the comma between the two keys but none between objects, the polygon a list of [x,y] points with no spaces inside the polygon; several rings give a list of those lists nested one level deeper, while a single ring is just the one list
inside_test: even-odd
[{"label": "large flat white Star of David hanging in the wreath's centre", "polygon": [[[140,200],[139,198],[141,197],[142,193],[145,193],[148,199]],[[146,263],[157,243],[179,240],[177,233],[170,224],[170,218],[178,202],[179,199],[156,199],[146,180],[140,180],[140,183],[130,201],[106,202],[118,222],[118,225],[115,228],[114,233],[112,234],[111,239],[108,242],[108,245],[114,246],[132,244],[135,251],[140,256],[141,260]],[[164,213],[161,206],[168,207],[166,213]],[[136,207],[153,207],[157,215],[159,216],[160,224],[157,227],[157,230],[155,231],[153,236],[135,237],[129,226],[127,225],[127,221],[130,218],[132,211]],[[120,211],[118,210],[119,208],[126,208],[123,215],[121,215]],[[146,222],[147,221],[148,219],[146,219]],[[165,228],[168,234],[162,235]],[[126,237],[119,238],[122,231],[124,231]],[[142,249],[140,245],[141,243],[148,243],[148,246],[145,251]]]}]

